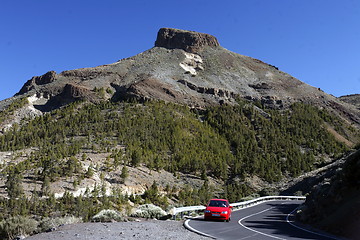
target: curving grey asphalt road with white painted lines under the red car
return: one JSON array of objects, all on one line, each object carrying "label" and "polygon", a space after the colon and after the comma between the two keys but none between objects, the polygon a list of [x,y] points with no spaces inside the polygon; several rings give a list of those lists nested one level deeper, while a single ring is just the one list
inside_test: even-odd
[{"label": "curving grey asphalt road with white painted lines under the red car", "polygon": [[198,218],[188,221],[188,225],[216,239],[337,239],[293,226],[293,216],[289,214],[301,203],[302,201],[270,201],[232,212],[230,222]]}]

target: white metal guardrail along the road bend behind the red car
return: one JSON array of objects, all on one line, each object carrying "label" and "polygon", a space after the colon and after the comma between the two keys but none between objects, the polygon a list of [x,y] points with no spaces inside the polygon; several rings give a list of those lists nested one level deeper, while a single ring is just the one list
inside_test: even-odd
[{"label": "white metal guardrail along the road bend behind the red car", "polygon": [[[252,200],[230,203],[230,206],[233,206],[234,210],[238,210],[245,207],[254,206],[267,201],[276,201],[276,200],[305,200],[306,197],[302,196],[266,196],[259,197]],[[202,211],[205,209],[205,206],[188,206],[188,207],[179,207],[173,209],[173,219],[176,219],[177,214],[181,214],[181,218],[183,218],[184,213],[190,213],[194,211]]]}]

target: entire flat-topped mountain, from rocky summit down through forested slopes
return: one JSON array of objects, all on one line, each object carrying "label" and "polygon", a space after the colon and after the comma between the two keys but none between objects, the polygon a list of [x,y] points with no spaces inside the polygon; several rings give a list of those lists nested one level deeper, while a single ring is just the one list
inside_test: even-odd
[{"label": "entire flat-topped mountain, from rocky summit down through forested slopes", "polygon": [[306,194],[302,176],[360,142],[353,101],[170,28],[136,56],[32,77],[0,109],[0,220]]}]

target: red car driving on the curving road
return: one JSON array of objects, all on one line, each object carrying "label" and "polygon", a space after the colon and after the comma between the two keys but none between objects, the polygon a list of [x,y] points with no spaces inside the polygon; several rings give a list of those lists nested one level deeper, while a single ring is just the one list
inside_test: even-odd
[{"label": "red car driving on the curving road", "polygon": [[226,199],[210,199],[204,211],[204,219],[218,219],[229,222],[232,206]]}]

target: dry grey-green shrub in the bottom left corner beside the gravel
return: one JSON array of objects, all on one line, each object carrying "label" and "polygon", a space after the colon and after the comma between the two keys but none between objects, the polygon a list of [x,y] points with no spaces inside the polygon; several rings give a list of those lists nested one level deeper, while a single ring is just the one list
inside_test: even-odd
[{"label": "dry grey-green shrub in the bottom left corner beside the gravel", "polygon": [[0,222],[0,238],[14,239],[16,236],[28,236],[37,230],[39,223],[29,217],[15,216]]}]

